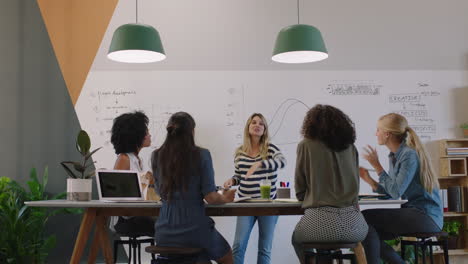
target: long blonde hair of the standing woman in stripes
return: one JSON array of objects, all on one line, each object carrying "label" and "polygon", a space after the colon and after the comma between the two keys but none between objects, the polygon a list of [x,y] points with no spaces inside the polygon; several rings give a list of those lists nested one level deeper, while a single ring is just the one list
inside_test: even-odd
[{"label": "long blonde hair of the standing woman in stripes", "polygon": [[267,125],[266,119],[260,113],[253,113],[249,117],[249,119],[247,119],[247,122],[245,123],[245,128],[244,128],[244,143],[242,144],[242,146],[236,149],[236,152],[234,154],[235,157],[237,157],[241,153],[248,154],[252,150],[252,141],[250,140],[249,126],[250,126],[250,123],[252,123],[252,120],[256,116],[262,120],[263,125],[265,127],[265,129],[263,130],[263,135],[260,137],[260,142],[259,142],[260,153],[259,154],[260,154],[260,157],[262,157],[262,159],[266,159],[268,157],[268,145],[270,144],[270,136],[268,134],[268,125]]}]

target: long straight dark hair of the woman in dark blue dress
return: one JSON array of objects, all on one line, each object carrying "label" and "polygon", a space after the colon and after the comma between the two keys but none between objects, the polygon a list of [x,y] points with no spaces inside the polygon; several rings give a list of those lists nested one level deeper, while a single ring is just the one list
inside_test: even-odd
[{"label": "long straight dark hair of the woman in dark blue dress", "polygon": [[185,192],[189,177],[200,170],[200,148],[195,145],[195,120],[186,112],[177,112],[167,124],[162,146],[153,152],[153,172],[159,172],[160,195],[170,200],[175,191]]}]

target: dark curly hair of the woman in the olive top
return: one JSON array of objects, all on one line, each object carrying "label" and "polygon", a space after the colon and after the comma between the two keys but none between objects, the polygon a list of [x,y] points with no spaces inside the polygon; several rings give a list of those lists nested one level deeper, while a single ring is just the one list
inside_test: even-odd
[{"label": "dark curly hair of the woman in the olive top", "polygon": [[342,151],[356,141],[354,123],[340,109],[318,104],[310,109],[302,124],[305,138],[317,139],[333,151]]}]

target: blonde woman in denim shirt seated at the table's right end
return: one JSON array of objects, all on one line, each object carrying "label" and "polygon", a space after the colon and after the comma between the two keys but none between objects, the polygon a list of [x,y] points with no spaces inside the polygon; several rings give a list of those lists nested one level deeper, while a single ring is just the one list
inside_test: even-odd
[{"label": "blonde woman in denim shirt seated at the table's right end", "polygon": [[439,184],[424,146],[405,117],[395,113],[382,116],[376,136],[378,144],[390,150],[389,170],[382,168],[375,148],[367,146],[363,157],[374,167],[379,181],[372,179],[364,168],[360,168],[360,176],[374,192],[408,202],[398,209],[363,211],[369,225],[363,245],[370,264],[379,263],[380,258],[389,263],[405,263],[384,240],[405,233],[441,231]]}]

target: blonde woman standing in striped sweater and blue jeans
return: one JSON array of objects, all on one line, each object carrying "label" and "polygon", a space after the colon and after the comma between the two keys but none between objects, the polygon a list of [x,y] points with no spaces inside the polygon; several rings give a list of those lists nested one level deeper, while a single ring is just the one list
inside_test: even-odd
[{"label": "blonde woman standing in striped sweater and blue jeans", "polygon": [[[284,168],[286,159],[278,147],[270,143],[268,126],[262,114],[252,114],[244,129],[244,143],[235,153],[234,176],[224,183],[225,188],[239,185],[240,197],[260,198],[260,181],[271,182],[270,198],[276,198],[278,169]],[[271,247],[278,216],[238,216],[233,245],[234,263],[244,263],[250,232],[258,221],[258,264],[271,261]]]}]

